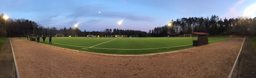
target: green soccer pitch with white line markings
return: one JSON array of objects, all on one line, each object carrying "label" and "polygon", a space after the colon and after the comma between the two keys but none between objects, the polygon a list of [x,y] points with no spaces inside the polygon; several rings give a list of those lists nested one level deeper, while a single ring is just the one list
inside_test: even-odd
[{"label": "green soccer pitch with white line markings", "polygon": [[[23,38],[26,39],[26,38]],[[209,37],[209,44],[230,39],[228,37]],[[195,40],[195,38],[194,38]],[[192,46],[192,38],[183,37],[155,37],[155,38],[89,38],[86,37],[56,37],[52,38],[52,44],[49,44],[49,37],[40,43],[64,47],[73,50],[81,50],[96,53],[110,54],[146,54],[159,53],[173,50],[181,50]]]}]

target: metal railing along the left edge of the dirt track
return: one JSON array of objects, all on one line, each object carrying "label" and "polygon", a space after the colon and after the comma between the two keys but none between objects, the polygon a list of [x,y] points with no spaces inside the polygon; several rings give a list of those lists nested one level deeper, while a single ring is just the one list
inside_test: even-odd
[{"label": "metal railing along the left edge of the dirt track", "polygon": [[[10,43],[11,43],[11,47],[12,47],[11,38],[9,37],[9,39],[10,39]],[[13,48],[12,48],[12,61],[14,62],[14,65],[15,65],[15,78],[20,78],[20,72],[19,72],[17,62],[16,62],[16,59],[14,56]]]}]

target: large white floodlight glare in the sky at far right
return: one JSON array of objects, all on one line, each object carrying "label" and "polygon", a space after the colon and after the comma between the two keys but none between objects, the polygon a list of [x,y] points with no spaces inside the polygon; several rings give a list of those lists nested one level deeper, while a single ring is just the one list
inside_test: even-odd
[{"label": "large white floodlight glare in the sky at far right", "polygon": [[248,16],[248,17],[256,16],[256,3],[245,9],[244,16]]}]

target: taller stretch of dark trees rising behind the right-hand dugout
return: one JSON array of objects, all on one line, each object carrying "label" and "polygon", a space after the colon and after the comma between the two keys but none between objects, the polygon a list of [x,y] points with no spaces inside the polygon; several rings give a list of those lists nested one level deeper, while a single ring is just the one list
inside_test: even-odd
[{"label": "taller stretch of dark trees rising behind the right-hand dugout", "polygon": [[[249,31],[249,30],[250,31]],[[148,31],[148,36],[172,36],[172,34],[183,35],[192,32],[204,32],[209,35],[255,35],[256,17],[238,17],[221,19],[216,15],[207,17],[181,18],[168,26],[159,26]],[[250,33],[248,33],[250,32]]]}]

